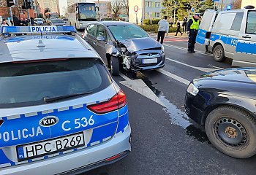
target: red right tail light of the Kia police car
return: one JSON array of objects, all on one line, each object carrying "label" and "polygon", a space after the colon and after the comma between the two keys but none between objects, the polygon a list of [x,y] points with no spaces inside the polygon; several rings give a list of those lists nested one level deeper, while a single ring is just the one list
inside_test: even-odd
[{"label": "red right tail light of the Kia police car", "polygon": [[126,104],[127,104],[126,95],[122,90],[120,90],[109,101],[105,101],[99,104],[92,104],[87,106],[87,108],[92,112],[95,112],[96,114],[104,114],[104,113],[115,111],[116,109],[121,109]]}]

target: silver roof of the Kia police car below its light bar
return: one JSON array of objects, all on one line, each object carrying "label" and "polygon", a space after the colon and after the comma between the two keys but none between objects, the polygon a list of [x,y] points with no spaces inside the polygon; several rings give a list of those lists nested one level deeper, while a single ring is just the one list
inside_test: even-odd
[{"label": "silver roof of the Kia police car below its light bar", "polygon": [[2,37],[0,58],[0,63],[5,63],[50,58],[98,58],[98,55],[78,36],[55,34]]}]

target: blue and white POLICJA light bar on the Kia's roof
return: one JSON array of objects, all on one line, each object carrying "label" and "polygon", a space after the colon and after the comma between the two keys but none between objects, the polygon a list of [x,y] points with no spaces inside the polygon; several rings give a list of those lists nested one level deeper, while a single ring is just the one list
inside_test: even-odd
[{"label": "blue and white POLICJA light bar on the Kia's roof", "polygon": [[2,34],[40,34],[40,33],[71,33],[76,32],[73,26],[4,26]]}]

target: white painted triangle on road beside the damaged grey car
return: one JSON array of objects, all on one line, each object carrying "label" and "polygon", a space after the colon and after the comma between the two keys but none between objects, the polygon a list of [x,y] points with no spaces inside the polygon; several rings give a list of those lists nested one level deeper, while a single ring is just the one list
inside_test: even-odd
[{"label": "white painted triangle on road beside the damaged grey car", "polygon": [[129,79],[124,74],[120,74],[120,76],[125,79],[125,81],[120,82],[122,85],[125,85],[127,88],[130,88],[131,90],[140,93],[146,98],[151,99],[151,101],[154,101],[157,104],[165,107],[165,104],[163,104],[158,96],[156,96],[156,94],[154,94],[154,92],[150,88],[148,88],[148,86],[145,84],[145,82],[143,82],[142,79]]}]

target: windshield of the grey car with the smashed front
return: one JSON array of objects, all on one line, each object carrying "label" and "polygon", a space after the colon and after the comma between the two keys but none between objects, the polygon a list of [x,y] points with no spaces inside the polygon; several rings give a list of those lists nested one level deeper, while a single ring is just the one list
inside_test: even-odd
[{"label": "windshield of the grey car with the smashed front", "polygon": [[134,38],[145,38],[148,37],[145,31],[138,26],[131,25],[119,25],[119,26],[108,26],[113,36],[118,39],[134,39]]}]

